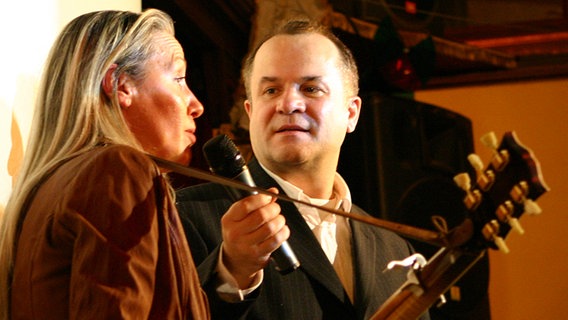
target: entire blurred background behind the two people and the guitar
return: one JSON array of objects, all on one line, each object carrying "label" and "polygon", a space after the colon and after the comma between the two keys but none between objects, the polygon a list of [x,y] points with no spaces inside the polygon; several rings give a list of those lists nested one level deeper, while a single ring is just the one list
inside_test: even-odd
[{"label": "entire blurred background behind the two people and the guitar", "polygon": [[[13,2],[13,3],[12,3]],[[363,117],[338,170],[355,203],[377,217],[431,228],[432,214],[459,223],[467,212],[451,182],[465,159],[492,151],[479,138],[515,131],[539,160],[551,191],[540,216],[523,216],[511,252],[489,254],[456,284],[434,319],[558,319],[568,307],[568,0],[35,0],[3,3],[0,15],[0,214],[25,152],[37,81],[56,34],[99,9],[155,7],[176,21],[189,85],[205,105],[201,145],[227,133],[250,155],[241,60],[276,21],[321,20],[354,52]],[[357,160],[357,161],[354,161]],[[199,181],[174,177],[177,187]],[[436,248],[416,243],[431,254]]]}]

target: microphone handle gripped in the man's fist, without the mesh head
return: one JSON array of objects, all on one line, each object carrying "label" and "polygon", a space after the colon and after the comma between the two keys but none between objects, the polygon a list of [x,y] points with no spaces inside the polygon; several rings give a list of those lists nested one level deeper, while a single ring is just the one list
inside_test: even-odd
[{"label": "microphone handle gripped in the man's fist, without the mesh head", "polygon": [[[252,179],[252,176],[250,175],[250,172],[248,171],[248,168],[246,166],[243,168],[243,171],[233,179],[245,183],[251,187],[256,187],[256,184],[254,183],[254,180]],[[240,200],[251,194],[256,194],[256,192],[250,193],[245,190],[239,190],[231,187],[226,188],[233,198],[233,201]],[[288,241],[282,242],[280,247],[272,252],[270,258],[274,262],[276,270],[278,270],[281,274],[288,274],[296,270],[300,266],[300,261],[296,257],[294,251],[292,251],[292,248],[288,244]]]}]

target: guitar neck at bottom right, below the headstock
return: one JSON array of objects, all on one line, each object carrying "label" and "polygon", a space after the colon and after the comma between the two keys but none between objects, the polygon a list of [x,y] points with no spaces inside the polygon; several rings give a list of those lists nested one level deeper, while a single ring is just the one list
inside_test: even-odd
[{"label": "guitar neck at bottom right, below the headstock", "polygon": [[393,294],[371,317],[372,320],[417,319],[434,305],[483,255],[463,249],[442,248],[421,271]]}]

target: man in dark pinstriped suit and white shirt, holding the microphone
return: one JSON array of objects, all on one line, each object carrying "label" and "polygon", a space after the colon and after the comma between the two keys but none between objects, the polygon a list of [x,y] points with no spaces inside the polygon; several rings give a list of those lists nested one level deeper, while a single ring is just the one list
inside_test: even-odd
[{"label": "man in dark pinstriped suit and white shirt, holding the microphone", "polygon": [[[243,79],[257,186],[365,214],[336,173],[361,108],[349,50],[327,29],[292,21],[251,52]],[[216,184],[178,193],[213,318],[366,319],[406,280],[384,272],[411,254],[394,233],[265,195],[230,199]],[[301,266],[281,274],[269,254],[286,239]]]}]

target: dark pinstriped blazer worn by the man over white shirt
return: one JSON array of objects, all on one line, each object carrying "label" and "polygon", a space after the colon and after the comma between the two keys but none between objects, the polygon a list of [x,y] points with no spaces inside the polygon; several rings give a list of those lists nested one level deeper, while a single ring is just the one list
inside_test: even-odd
[{"label": "dark pinstriped blazer worn by the man over white shirt", "polygon": [[[257,186],[278,187],[255,159],[249,169]],[[367,319],[406,280],[404,270],[384,270],[388,262],[412,254],[408,243],[390,231],[350,221],[355,274],[352,304],[296,206],[279,201],[291,231],[288,243],[300,260],[300,268],[282,275],[271,262],[264,270],[262,285],[251,299],[242,303],[223,302],[215,294],[215,267],[222,241],[220,218],[231,203],[224,187],[218,184],[192,186],[177,194],[178,211],[201,284],[209,296],[213,319]],[[355,206],[352,211],[366,214]]]}]

